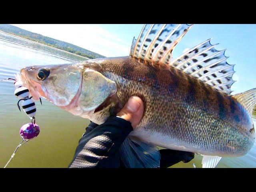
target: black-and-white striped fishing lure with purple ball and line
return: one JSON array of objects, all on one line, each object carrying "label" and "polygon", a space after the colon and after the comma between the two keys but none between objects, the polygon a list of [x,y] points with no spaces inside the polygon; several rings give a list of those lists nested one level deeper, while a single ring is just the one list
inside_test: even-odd
[{"label": "black-and-white striped fishing lure with purple ball and line", "polygon": [[[28,88],[24,87],[20,80],[16,80],[16,79],[13,79],[13,78],[8,78],[8,79],[5,79],[5,80],[14,80],[14,86],[15,86],[14,95],[16,97],[20,98],[20,100],[17,103],[18,109],[20,110],[19,103],[20,103],[20,101],[23,100],[23,102],[21,104],[22,109],[24,110],[24,112],[27,114],[27,116],[32,121],[31,121],[31,123],[27,123],[27,124],[23,125],[20,128],[20,136],[22,137],[22,141],[16,147],[16,149],[14,150],[11,158],[8,160],[8,162],[6,163],[4,168],[6,168],[6,166],[9,164],[9,162],[12,160],[12,158],[14,157],[14,155],[16,154],[16,152],[17,152],[18,148],[20,148],[20,146],[27,143],[29,140],[37,137],[38,134],[40,133],[40,128],[36,124],[36,118],[35,118],[36,104],[32,100],[32,96],[29,97],[30,93],[29,93]],[[1,81],[3,81],[3,80],[1,80]],[[42,105],[41,98],[40,98],[40,103]]]}]

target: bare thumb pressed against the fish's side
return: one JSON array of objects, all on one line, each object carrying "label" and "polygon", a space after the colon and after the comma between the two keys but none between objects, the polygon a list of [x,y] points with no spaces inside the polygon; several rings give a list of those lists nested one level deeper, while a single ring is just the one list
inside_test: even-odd
[{"label": "bare thumb pressed against the fish's side", "polygon": [[139,124],[140,119],[143,116],[143,112],[143,101],[137,96],[132,96],[129,98],[128,102],[121,109],[121,111],[116,115],[126,121],[131,122],[132,127],[135,128]]}]

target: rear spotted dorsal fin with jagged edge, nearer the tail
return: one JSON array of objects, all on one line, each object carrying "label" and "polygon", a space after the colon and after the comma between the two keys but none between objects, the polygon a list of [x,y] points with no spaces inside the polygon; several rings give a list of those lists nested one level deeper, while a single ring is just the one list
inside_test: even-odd
[{"label": "rear spotted dorsal fin with jagged edge, nearer the tail", "polygon": [[224,54],[225,50],[216,50],[214,46],[217,44],[212,45],[210,40],[186,51],[168,65],[190,74],[219,92],[230,94],[230,87],[235,82],[232,80],[234,65],[226,62],[228,57]]}]

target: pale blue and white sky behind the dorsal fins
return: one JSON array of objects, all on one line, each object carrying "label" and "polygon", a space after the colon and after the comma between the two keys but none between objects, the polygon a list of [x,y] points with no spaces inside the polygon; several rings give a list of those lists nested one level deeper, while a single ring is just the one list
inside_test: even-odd
[{"label": "pale blue and white sky behind the dorsal fins", "polygon": [[[98,54],[115,57],[130,53],[132,39],[138,37],[143,24],[13,24],[19,28],[72,43]],[[209,38],[220,43],[217,50],[227,49],[227,62],[236,64],[236,80],[231,87],[236,94],[256,88],[256,24],[195,24],[176,46],[178,57]]]}]

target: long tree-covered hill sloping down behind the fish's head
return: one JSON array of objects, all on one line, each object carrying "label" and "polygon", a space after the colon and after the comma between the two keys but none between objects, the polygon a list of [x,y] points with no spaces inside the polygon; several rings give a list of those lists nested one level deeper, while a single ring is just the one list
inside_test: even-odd
[{"label": "long tree-covered hill sloping down behind the fish's head", "polygon": [[28,40],[32,40],[38,43],[42,43],[54,48],[58,48],[64,51],[68,51],[70,53],[74,53],[83,57],[87,57],[90,59],[94,59],[94,58],[103,58],[105,56],[102,56],[98,53],[94,53],[92,51],[89,51],[87,49],[84,49],[82,47],[78,47],[76,45],[73,45],[71,43],[67,43],[64,41],[60,41],[60,40],[56,40],[50,37],[46,37],[43,36],[41,34],[37,34],[37,33],[33,33],[21,28],[18,28],[16,26],[13,25],[9,25],[9,24],[0,24],[0,30],[9,34],[13,34],[16,36],[20,36],[23,38],[26,38]]}]

